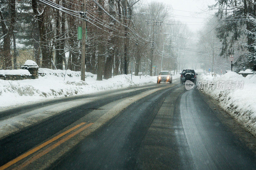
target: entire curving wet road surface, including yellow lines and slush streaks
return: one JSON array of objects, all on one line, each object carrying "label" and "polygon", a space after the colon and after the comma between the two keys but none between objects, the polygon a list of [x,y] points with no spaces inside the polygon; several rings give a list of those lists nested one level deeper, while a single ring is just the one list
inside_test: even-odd
[{"label": "entire curving wet road surface, including yellow lines and slush streaks", "polygon": [[178,83],[1,112],[0,169],[255,169],[255,138]]}]

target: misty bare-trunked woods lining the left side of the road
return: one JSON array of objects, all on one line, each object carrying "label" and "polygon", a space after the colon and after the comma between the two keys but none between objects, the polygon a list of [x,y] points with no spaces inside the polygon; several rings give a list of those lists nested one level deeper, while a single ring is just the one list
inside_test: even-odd
[{"label": "misty bare-trunked woods lining the left side of the road", "polygon": [[[70,13],[82,10],[79,0],[44,2]],[[19,68],[16,44],[33,49],[30,57],[42,68],[81,69],[81,40],[77,39],[80,18],[39,0],[3,0],[0,5],[1,69]],[[135,75],[139,71],[153,74],[151,65],[159,71],[162,55],[164,69],[178,69],[180,50],[172,44],[186,44],[186,39],[179,37],[188,38],[189,30],[171,18],[171,7],[158,2],[142,5],[136,0],[87,0],[86,10],[86,71],[97,74],[98,80],[102,75],[111,78],[112,71],[114,75],[131,70]]]}]

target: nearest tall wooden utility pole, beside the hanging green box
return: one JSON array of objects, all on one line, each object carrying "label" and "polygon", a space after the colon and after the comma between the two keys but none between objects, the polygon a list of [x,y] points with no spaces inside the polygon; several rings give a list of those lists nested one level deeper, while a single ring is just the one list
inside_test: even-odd
[{"label": "nearest tall wooden utility pole, beside the hanging green box", "polygon": [[[83,0],[83,18],[86,18],[86,0]],[[86,21],[82,20],[81,80],[85,80]]]}]

